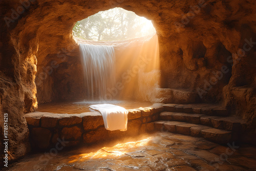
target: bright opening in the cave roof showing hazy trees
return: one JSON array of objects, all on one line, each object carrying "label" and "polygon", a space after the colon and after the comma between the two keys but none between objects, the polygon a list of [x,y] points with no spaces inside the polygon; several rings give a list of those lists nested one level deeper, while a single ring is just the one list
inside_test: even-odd
[{"label": "bright opening in the cave roof showing hazy trees", "polygon": [[96,41],[132,39],[154,33],[155,29],[149,22],[134,12],[114,8],[78,21],[73,34],[75,37]]}]

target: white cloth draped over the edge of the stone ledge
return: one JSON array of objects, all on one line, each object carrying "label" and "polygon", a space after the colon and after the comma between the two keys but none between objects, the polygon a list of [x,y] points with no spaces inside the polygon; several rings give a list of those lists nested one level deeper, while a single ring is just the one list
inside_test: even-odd
[{"label": "white cloth draped over the edge of the stone ledge", "polygon": [[121,106],[113,104],[95,104],[90,105],[89,108],[101,113],[106,130],[127,130],[128,111]]}]

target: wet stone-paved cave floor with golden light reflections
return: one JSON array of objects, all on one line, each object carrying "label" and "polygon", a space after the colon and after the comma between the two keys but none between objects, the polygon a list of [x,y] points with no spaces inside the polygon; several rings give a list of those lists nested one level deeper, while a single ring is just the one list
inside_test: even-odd
[{"label": "wet stone-paved cave floor with golden light reflections", "polygon": [[122,143],[52,148],[28,155],[5,170],[256,170],[255,154],[255,146],[222,146],[202,138],[157,132]]}]

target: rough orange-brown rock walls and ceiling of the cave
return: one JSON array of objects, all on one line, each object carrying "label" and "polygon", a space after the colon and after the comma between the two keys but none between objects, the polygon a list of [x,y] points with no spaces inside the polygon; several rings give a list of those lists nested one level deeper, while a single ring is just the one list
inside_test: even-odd
[{"label": "rough orange-brown rock walls and ceiling of the cave", "polygon": [[[11,159],[28,149],[24,112],[36,110],[36,83],[39,102],[79,97],[79,91],[72,91],[78,80],[69,76],[79,74],[73,70],[78,56],[74,24],[114,7],[153,21],[159,38],[162,88],[199,92],[203,101],[223,99],[234,114],[249,120],[256,116],[250,107],[255,106],[256,84],[254,1],[12,0],[0,5],[0,109],[2,118],[4,113],[9,116]],[[44,67],[49,74],[40,78]],[[67,94],[56,94],[57,89]]]}]

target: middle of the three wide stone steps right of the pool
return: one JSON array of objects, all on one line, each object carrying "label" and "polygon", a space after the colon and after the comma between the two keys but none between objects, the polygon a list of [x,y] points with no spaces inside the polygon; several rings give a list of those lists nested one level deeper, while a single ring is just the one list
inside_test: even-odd
[{"label": "middle of the three wide stone steps right of the pool", "polygon": [[160,119],[166,121],[179,121],[193,124],[201,124],[215,129],[241,132],[245,121],[238,117],[209,116],[203,114],[187,114],[178,112],[162,112]]}]

